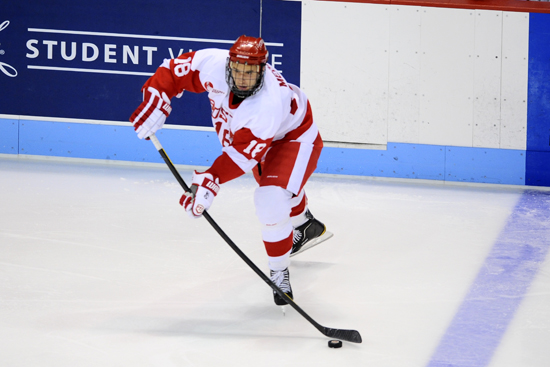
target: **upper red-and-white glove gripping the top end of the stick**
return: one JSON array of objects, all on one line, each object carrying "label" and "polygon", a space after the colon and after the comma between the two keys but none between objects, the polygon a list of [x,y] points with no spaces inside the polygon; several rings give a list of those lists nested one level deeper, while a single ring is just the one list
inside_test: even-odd
[{"label": "upper red-and-white glove gripping the top end of the stick", "polygon": [[146,87],[143,91],[143,102],[130,117],[138,138],[148,138],[157,132],[171,111],[170,98],[166,93],[162,92],[161,95],[155,88]]}]

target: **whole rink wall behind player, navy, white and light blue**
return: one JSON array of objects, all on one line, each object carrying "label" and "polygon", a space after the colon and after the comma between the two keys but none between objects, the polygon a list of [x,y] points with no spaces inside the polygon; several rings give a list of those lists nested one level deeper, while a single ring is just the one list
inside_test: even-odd
[{"label": "whole rink wall behind player, navy, white and light blue", "polygon": [[[53,3],[0,5],[0,154],[160,163],[127,122],[141,85],[164,58],[247,34],[308,94],[317,173],[550,186],[546,4]],[[206,95],[172,105],[171,159],[210,165]]]}]

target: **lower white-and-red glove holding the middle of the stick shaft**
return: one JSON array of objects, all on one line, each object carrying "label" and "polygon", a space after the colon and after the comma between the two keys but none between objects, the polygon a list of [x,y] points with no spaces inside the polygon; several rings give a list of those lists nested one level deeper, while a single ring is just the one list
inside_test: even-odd
[{"label": "lower white-and-red glove holding the middle of the stick shaft", "polygon": [[191,184],[191,192],[186,192],[180,199],[180,205],[185,208],[192,218],[198,218],[202,212],[208,210],[214,198],[220,191],[219,180],[210,173],[195,171]]}]

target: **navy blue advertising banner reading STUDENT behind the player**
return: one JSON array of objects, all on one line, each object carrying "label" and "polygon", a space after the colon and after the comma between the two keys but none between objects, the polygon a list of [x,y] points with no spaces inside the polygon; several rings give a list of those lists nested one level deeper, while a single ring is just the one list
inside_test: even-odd
[{"label": "navy blue advertising banner reading STUDENT behind the player", "polygon": [[[299,84],[301,3],[277,0],[0,4],[0,114],[127,121],[165,58],[261,36]],[[210,126],[206,95],[184,93],[167,123]]]}]

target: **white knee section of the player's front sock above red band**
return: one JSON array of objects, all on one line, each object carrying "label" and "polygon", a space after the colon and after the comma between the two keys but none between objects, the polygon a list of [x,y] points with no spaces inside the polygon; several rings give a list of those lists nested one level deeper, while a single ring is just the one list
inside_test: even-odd
[{"label": "white knee section of the player's front sock above red band", "polygon": [[261,186],[254,192],[256,216],[263,225],[276,225],[290,218],[292,193],[278,186]]}]

